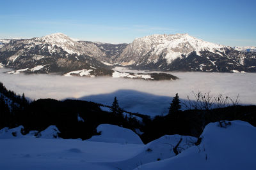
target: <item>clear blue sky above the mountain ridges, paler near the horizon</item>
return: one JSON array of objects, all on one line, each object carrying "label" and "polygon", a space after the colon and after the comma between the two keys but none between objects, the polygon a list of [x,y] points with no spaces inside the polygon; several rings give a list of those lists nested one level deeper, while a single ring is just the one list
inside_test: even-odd
[{"label": "clear blue sky above the mountain ridges, paler near the horizon", "polygon": [[63,32],[81,40],[131,43],[150,34],[188,33],[230,46],[256,46],[256,1],[1,0],[0,38]]}]

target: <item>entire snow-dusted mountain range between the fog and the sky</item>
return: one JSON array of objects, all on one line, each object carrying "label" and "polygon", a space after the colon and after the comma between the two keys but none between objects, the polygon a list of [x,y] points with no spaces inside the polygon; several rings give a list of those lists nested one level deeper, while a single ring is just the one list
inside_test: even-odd
[{"label": "entire snow-dusted mountain range between the fog and the sky", "polygon": [[256,52],[253,46],[232,48],[188,34],[154,34],[113,45],[74,41],[56,33],[0,39],[0,66],[12,68],[10,73],[69,76],[113,76],[115,66],[150,71],[256,72]]}]

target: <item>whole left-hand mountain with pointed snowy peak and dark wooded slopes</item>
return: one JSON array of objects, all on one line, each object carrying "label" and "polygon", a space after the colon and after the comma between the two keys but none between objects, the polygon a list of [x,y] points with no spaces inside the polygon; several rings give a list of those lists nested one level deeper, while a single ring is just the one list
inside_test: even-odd
[{"label": "whole left-hand mountain with pointed snowy peak and dark wooded slopes", "polygon": [[61,33],[11,39],[0,48],[1,66],[26,73],[65,74],[79,69],[93,69],[96,76],[113,73],[94,58],[101,56],[104,53],[96,45],[78,43]]}]

